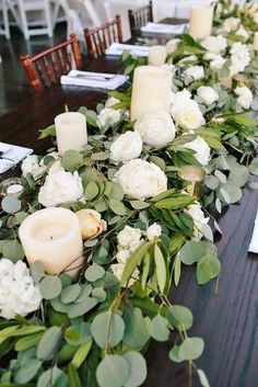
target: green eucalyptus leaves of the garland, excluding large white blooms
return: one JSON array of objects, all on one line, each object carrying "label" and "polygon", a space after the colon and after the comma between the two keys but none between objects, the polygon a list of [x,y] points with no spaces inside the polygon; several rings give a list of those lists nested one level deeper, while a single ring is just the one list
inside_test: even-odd
[{"label": "green eucalyptus leaves of the garland, excluding large white blooms", "polygon": [[[241,18],[248,31],[245,42],[251,43],[257,26],[254,14],[248,8],[241,11],[237,7],[230,9],[226,2],[222,5],[216,29],[222,29],[221,23],[228,16]],[[233,32],[226,33],[226,38],[230,46],[244,39]],[[85,151],[70,150],[60,158],[51,149],[47,156],[23,163],[24,191],[20,195],[5,195],[1,203],[0,268],[3,259],[14,263],[24,259],[17,229],[28,214],[42,208],[40,190],[54,166],[80,179],[83,186],[83,198],[58,205],[75,213],[94,209],[107,223],[107,230],[99,223],[101,217],[96,217],[99,228],[85,237],[85,261],[75,281],[66,271],[47,275],[39,262],[30,268],[43,301],[40,308],[26,318],[21,315],[0,318],[1,387],[140,386],[146,377],[143,355],[150,340],[167,341],[171,331],[177,332],[177,339],[169,358],[187,361],[189,368],[199,375],[200,384],[209,386],[204,372],[195,362],[202,354],[203,340],[188,334],[192,314],[185,306],[174,305],[168,292],[173,283],[179,285],[183,264],[196,268],[199,285],[218,277],[221,264],[203,212],[197,198],[185,193],[177,172],[185,164],[201,166],[198,150],[186,147],[200,137],[211,148],[210,161],[204,166],[202,208],[214,204],[220,213],[223,206],[241,200],[249,173],[258,174],[257,159],[251,161],[257,147],[257,125],[255,112],[239,105],[234,89],[245,84],[256,92],[250,79],[258,71],[258,62],[251,52],[244,78],[242,73],[232,77],[232,88],[225,89],[219,80],[228,76],[230,47],[225,48],[227,59],[223,68],[216,71],[211,70],[206,53],[200,43],[184,35],[167,59],[168,65],[173,64],[174,92],[187,87],[206,123],[190,133],[177,125],[176,139],[165,147],[143,146],[141,160],[156,166],[166,175],[165,192],[136,198],[125,194],[119,182],[114,181],[121,162],[110,159],[110,147],[114,139],[134,125],[127,114],[130,88],[124,93],[110,92],[108,102],[98,104],[96,112],[86,107],[79,110],[86,115],[90,128]],[[128,53],[122,60],[127,73],[132,73],[139,65]],[[203,66],[204,78],[187,80],[185,71],[191,66]],[[207,105],[198,96],[197,90],[203,84],[213,87],[219,101]],[[40,137],[49,135],[55,143],[54,126],[42,130]],[[257,187],[255,182],[248,184]],[[198,207],[199,215],[201,212],[199,218],[189,210],[192,205]],[[208,216],[208,209],[203,210]],[[215,219],[210,220],[212,228],[221,232]],[[119,276],[113,266],[121,264],[121,250],[129,243],[128,236],[130,242],[137,240],[138,243],[127,247],[129,258]],[[0,287],[4,273],[2,269]],[[0,296],[0,312],[3,304]]]}]

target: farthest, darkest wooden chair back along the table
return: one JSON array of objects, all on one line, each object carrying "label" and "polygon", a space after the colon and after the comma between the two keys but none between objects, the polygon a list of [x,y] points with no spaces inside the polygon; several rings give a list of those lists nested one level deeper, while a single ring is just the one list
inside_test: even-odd
[{"label": "farthest, darkest wooden chair back along the table", "polygon": [[148,5],[128,10],[129,24],[131,36],[134,37],[139,34],[141,27],[148,22],[153,22],[152,1]]}]

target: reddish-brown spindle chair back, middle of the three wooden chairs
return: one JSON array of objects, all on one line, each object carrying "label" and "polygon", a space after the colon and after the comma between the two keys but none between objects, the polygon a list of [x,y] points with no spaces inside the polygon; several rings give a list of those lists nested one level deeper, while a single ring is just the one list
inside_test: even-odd
[{"label": "reddish-brown spindle chair back, middle of the three wooden chairs", "polygon": [[105,49],[114,42],[122,43],[121,19],[119,15],[112,22],[97,29],[84,29],[87,53],[91,59],[105,55]]}]

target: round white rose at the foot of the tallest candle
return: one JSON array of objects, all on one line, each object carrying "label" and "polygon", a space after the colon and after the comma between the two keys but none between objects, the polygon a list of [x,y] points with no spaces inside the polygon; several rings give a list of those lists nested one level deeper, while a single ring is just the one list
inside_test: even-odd
[{"label": "round white rose at the foot of the tallest candle", "polygon": [[165,147],[176,136],[174,122],[166,112],[150,113],[138,118],[134,130],[140,134],[142,141],[152,148]]}]

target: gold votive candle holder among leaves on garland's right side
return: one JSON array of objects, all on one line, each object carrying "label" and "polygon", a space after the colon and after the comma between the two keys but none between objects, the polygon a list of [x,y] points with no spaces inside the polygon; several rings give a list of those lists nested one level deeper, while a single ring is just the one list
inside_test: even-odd
[{"label": "gold votive candle holder among leaves on garland's right side", "polygon": [[183,180],[185,190],[197,198],[201,197],[206,171],[197,166],[184,166],[177,172]]}]

